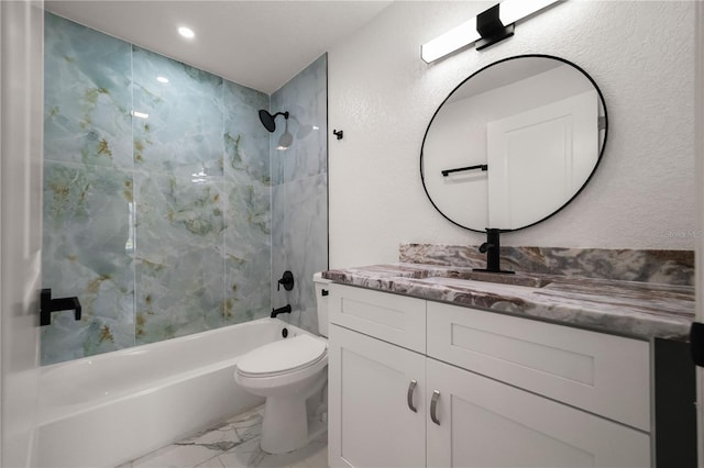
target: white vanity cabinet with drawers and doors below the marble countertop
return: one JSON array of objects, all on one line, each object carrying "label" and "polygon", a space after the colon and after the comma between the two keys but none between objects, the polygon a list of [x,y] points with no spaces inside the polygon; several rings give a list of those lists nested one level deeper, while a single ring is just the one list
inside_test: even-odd
[{"label": "white vanity cabinet with drawers and doors below the marble countertop", "polygon": [[651,465],[647,342],[330,286],[331,467]]}]

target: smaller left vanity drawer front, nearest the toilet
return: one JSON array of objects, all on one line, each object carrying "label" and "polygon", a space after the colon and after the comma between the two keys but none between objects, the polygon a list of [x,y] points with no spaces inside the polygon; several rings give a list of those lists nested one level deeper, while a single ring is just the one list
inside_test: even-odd
[{"label": "smaller left vanity drawer front, nearest the toilet", "polygon": [[425,300],[334,283],[329,289],[330,323],[426,353]]}]

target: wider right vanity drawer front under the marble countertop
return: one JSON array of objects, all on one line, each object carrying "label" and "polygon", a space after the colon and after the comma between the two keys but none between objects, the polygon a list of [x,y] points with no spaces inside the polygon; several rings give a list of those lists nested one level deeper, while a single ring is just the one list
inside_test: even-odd
[{"label": "wider right vanity drawer front under the marble countertop", "polygon": [[650,431],[648,342],[428,302],[428,356]]}]

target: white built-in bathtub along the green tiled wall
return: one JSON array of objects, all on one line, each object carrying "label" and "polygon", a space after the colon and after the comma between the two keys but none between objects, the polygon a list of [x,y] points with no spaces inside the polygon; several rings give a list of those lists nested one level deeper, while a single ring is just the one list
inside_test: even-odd
[{"label": "white built-in bathtub along the green tiled wall", "polygon": [[261,319],[42,368],[42,467],[114,467],[264,402],[233,378],[239,357],[307,333]]}]

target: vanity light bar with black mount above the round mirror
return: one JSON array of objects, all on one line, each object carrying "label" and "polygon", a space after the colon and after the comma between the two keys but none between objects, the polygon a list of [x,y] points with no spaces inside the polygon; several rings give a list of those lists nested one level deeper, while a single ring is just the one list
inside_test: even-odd
[{"label": "vanity light bar with black mount above the round mirror", "polygon": [[[481,51],[514,35],[516,22],[556,3],[558,0],[504,0],[476,18],[460,24],[420,47],[420,58],[430,64],[438,58],[476,43]],[[564,0],[563,0],[564,1]]]}]

